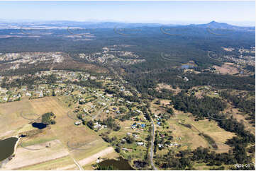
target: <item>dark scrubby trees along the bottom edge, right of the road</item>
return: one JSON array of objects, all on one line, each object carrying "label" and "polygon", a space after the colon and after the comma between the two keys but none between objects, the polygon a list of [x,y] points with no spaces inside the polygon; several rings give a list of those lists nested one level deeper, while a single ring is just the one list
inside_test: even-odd
[{"label": "dark scrubby trees along the bottom edge, right of the road", "polygon": [[[179,151],[179,153],[174,153],[174,151],[169,151],[165,155],[156,155],[155,164],[158,167],[165,170],[196,170],[193,165],[195,163],[206,163],[208,166],[214,166],[210,170],[224,170],[225,167],[222,165],[234,165],[236,163],[251,163],[252,155],[245,156],[243,155],[243,148],[235,148],[233,153],[229,151],[228,153],[216,153],[210,151],[208,148],[196,148],[194,151],[185,150]],[[240,158],[239,153],[241,151]],[[233,167],[229,167],[233,169]],[[255,170],[254,165],[246,168],[247,170]]]}]

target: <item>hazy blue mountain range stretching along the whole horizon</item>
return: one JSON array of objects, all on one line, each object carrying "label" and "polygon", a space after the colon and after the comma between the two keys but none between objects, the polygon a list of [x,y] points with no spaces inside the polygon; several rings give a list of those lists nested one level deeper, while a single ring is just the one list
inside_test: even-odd
[{"label": "hazy blue mountain range stretching along the whole horizon", "polygon": [[0,20],[0,29],[5,28],[32,28],[32,27],[44,27],[44,28],[60,28],[67,27],[75,28],[155,28],[155,27],[196,27],[196,28],[210,28],[210,29],[227,29],[236,31],[255,31],[255,27],[242,27],[236,25],[229,25],[228,23],[218,23],[211,21],[206,24],[191,24],[191,25],[163,25],[160,23],[122,23],[122,22],[92,22],[92,21],[70,21],[70,20],[52,20],[52,21],[8,21]]}]

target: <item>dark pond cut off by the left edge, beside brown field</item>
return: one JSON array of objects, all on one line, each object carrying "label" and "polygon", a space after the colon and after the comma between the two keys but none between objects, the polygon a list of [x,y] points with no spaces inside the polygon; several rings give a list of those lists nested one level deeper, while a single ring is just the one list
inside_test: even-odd
[{"label": "dark pond cut off by the left edge, beside brown field", "polygon": [[9,158],[13,154],[16,141],[18,141],[16,137],[0,140],[0,161]]}]

